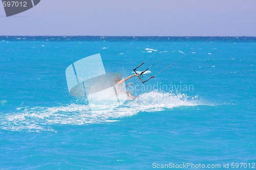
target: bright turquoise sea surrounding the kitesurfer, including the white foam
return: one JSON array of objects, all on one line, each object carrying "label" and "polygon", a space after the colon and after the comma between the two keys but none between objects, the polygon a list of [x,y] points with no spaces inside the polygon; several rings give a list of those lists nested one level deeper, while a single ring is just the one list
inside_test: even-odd
[{"label": "bright turquoise sea surrounding the kitesurfer, including the white foam", "polygon": [[140,98],[116,109],[91,112],[69,94],[65,70],[81,58],[100,53],[106,72],[127,77],[161,48],[139,68],[164,56],[155,75],[208,39],[184,37],[166,52],[178,38],[0,37],[0,169],[255,163],[254,37],[210,40],[127,87]]}]

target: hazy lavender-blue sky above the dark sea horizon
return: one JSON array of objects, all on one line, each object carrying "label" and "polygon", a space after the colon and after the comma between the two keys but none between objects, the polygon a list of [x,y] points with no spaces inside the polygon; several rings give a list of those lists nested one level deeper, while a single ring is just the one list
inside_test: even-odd
[{"label": "hazy lavender-blue sky above the dark sea horizon", "polygon": [[256,1],[41,0],[10,17],[0,4],[0,23],[4,36],[256,36]]}]

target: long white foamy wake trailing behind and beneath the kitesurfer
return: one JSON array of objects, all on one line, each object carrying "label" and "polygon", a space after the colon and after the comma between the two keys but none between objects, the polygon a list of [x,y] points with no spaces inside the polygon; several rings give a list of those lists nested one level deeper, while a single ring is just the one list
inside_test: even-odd
[{"label": "long white foamy wake trailing behind and beneath the kitesurfer", "polygon": [[[157,112],[181,106],[202,105],[199,101],[185,94],[151,91],[143,93],[134,101],[115,108],[97,107],[90,111],[88,105],[71,104],[56,107],[20,107],[12,113],[0,114],[0,128],[10,131],[55,131],[58,125],[84,125],[119,121],[120,118],[132,116],[138,112]],[[190,99],[190,100],[189,100]]]}]

